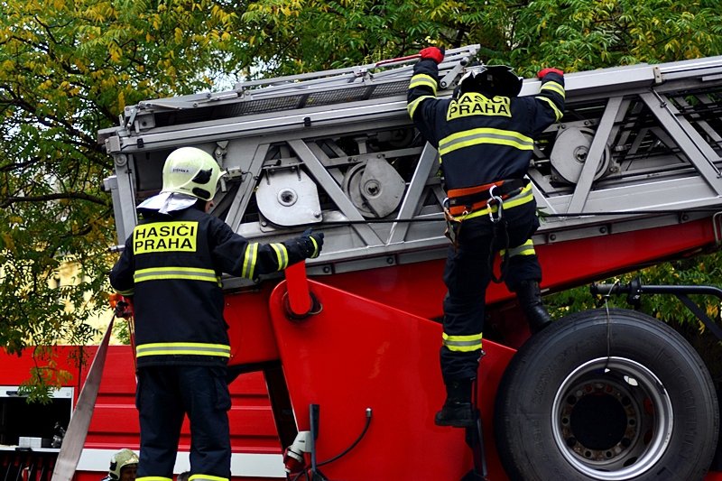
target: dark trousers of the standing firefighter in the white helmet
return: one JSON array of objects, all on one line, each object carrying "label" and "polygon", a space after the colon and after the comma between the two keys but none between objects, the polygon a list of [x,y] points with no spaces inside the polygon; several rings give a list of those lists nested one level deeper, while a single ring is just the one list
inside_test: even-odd
[{"label": "dark trousers of the standing firefighter in the white helmet", "polygon": [[138,368],[135,397],[141,453],[137,477],[172,479],[180,427],[190,421],[190,475],[229,479],[231,407],[226,367],[153,365]]}]

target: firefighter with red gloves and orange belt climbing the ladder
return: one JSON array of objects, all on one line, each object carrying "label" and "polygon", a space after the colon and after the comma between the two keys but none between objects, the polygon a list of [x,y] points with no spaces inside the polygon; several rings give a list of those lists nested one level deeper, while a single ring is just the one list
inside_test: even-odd
[{"label": "firefighter with red gloves and orange belt climbing the ladder", "polygon": [[[543,69],[534,97],[518,97],[522,79],[512,69],[482,66],[458,82],[452,98],[436,98],[443,51],[428,47],[413,69],[408,111],[439,151],[444,175],[449,247],[444,282],[441,375],[447,399],[435,422],[474,425],[471,390],[482,355],[486,287],[492,261],[502,254],[502,275],[532,332],[551,321],[542,305],[542,269],[532,244],[539,227],[532,185],[525,174],[534,137],[564,112],[564,77]],[[495,279],[498,281],[498,279]]]}]

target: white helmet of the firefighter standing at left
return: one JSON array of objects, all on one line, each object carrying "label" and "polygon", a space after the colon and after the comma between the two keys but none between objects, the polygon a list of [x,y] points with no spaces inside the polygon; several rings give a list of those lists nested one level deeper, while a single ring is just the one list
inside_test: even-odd
[{"label": "white helmet of the firefighter standing at left", "polygon": [[216,194],[219,177],[218,162],[209,153],[196,147],[180,147],[165,160],[161,192],[176,192],[210,200]]}]

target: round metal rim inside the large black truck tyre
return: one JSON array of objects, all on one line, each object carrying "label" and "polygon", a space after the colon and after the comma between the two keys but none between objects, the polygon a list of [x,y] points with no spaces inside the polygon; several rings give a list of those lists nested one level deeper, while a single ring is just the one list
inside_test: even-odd
[{"label": "round metal rim inside the large black truck tyre", "polygon": [[669,448],[669,393],[644,365],[592,359],[560,384],[551,412],[560,454],[588,479],[625,481],[648,472]]}]

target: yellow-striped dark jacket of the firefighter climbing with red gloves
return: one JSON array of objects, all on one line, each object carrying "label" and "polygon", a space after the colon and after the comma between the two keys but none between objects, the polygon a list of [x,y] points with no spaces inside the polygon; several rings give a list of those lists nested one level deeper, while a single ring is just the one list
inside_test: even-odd
[{"label": "yellow-striped dark jacket of the firefighter climbing with red gloves", "polygon": [[421,134],[439,150],[446,190],[522,179],[534,138],[564,112],[564,78],[549,73],[534,97],[486,97],[467,92],[436,98],[439,68],[420,60],[408,90],[408,111]]}]

